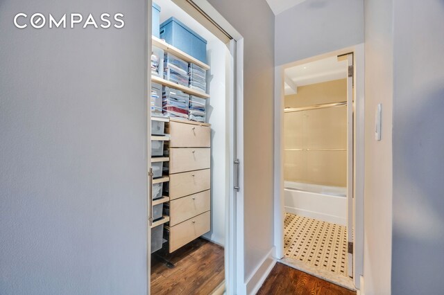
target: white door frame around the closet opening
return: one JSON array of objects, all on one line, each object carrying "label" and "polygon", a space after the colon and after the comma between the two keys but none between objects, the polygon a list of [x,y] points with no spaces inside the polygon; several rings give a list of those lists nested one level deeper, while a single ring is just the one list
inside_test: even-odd
[{"label": "white door frame around the closet opening", "polygon": [[[173,0],[181,8],[190,9],[188,1]],[[151,93],[151,6],[152,0],[146,2],[146,161],[147,161],[147,179],[148,171],[151,168],[151,136],[148,136],[151,130],[151,111],[150,111],[150,93]],[[227,294],[244,294],[244,38],[231,24],[207,1],[192,1],[207,17],[210,17],[217,26],[225,30],[232,40],[226,45],[232,54],[233,77],[230,80],[230,101],[228,102],[228,120],[229,122],[229,143],[230,143],[230,165],[229,165],[229,197],[226,202],[225,210],[225,291]],[[184,9],[187,11],[187,9]],[[191,17],[191,16],[190,16]],[[196,19],[196,17],[194,17]],[[198,20],[198,19],[196,19]],[[201,22],[201,21],[200,21]],[[202,22],[201,22],[202,23]],[[237,175],[238,180],[234,179],[234,160],[238,159]],[[239,190],[234,190],[234,184],[239,186]],[[150,204],[149,197],[151,188],[147,186],[147,205]],[[147,209],[149,210],[148,206]],[[149,213],[146,213],[148,220]],[[148,222],[146,222],[148,225]],[[147,226],[147,245],[146,245],[146,271],[147,271],[147,292],[151,294],[151,228]]]}]

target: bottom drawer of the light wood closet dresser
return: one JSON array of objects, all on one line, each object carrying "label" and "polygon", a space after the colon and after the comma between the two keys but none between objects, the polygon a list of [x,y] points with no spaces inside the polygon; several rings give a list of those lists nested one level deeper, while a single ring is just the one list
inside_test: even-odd
[{"label": "bottom drawer of the light wood closet dresser", "polygon": [[210,211],[197,215],[175,226],[170,226],[169,252],[176,251],[208,231],[210,231]]}]

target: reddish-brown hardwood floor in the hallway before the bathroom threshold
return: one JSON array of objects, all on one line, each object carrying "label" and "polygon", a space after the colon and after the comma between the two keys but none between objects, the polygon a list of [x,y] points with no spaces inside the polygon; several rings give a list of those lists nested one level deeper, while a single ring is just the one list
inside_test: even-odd
[{"label": "reddish-brown hardwood floor in the hallway before the bathroom threshold", "polygon": [[356,292],[278,262],[257,292],[257,295],[270,294],[356,295]]}]

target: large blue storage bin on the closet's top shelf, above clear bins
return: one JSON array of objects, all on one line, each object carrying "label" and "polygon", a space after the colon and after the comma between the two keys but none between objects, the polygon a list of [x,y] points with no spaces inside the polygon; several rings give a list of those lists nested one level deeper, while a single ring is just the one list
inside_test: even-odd
[{"label": "large blue storage bin on the closet's top shelf, above clear bins", "polygon": [[207,63],[207,40],[178,19],[170,17],[160,25],[160,38],[201,62]]}]

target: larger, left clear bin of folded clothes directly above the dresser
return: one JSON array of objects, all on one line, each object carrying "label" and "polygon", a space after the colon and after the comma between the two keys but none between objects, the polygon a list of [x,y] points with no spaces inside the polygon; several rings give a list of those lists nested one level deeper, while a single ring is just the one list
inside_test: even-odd
[{"label": "larger, left clear bin of folded clothes directly above the dresser", "polygon": [[163,87],[162,109],[164,116],[188,119],[189,94],[178,89]]}]

